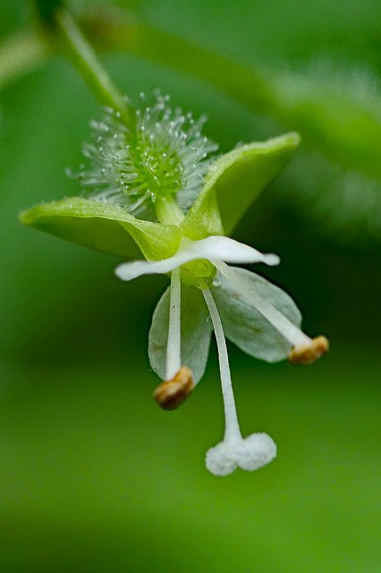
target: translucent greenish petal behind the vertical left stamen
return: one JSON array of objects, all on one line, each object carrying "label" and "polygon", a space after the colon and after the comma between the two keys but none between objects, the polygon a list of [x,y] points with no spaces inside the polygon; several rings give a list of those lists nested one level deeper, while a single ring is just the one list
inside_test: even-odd
[{"label": "translucent greenish petal behind the vertical left stamen", "polygon": [[[170,288],[157,303],[148,337],[148,355],[152,369],[165,380],[165,357],[168,340]],[[195,384],[207,365],[212,325],[199,288],[182,284],[182,365],[193,372]]]}]

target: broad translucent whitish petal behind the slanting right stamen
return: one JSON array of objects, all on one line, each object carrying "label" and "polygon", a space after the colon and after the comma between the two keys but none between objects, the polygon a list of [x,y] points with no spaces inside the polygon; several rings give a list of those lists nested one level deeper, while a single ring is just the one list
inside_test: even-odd
[{"label": "broad translucent whitish petal behind the slanting right stamen", "polygon": [[[292,298],[278,286],[269,283],[266,278],[259,277],[250,270],[234,268],[241,283],[249,286],[268,303],[282,312],[296,326],[301,326],[301,312]],[[243,352],[250,356],[278,362],[284,360],[292,345],[275,327],[241,295],[239,284],[217,273],[215,286],[211,288],[216,300],[221,321],[224,324],[226,338],[232,340]]]}]

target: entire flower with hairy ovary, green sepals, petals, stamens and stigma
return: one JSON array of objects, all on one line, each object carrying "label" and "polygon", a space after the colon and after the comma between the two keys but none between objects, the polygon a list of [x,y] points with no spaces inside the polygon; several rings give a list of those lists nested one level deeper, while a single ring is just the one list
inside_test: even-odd
[{"label": "entire flower with hairy ovary, green sepals, petals, stamens and stigma", "polygon": [[[190,395],[205,371],[214,330],[225,432],[207,451],[207,469],[214,475],[258,469],[275,458],[276,446],[263,432],[241,436],[225,337],[267,362],[288,356],[292,363],[312,363],[328,345],[301,331],[301,313],[284,291],[226,264],[275,265],[278,257],[226,235],[282,171],[300,138],[287,133],[211,159],[216,145],[200,133],[204,120],[173,111],[158,92],[155,98],[144,108],[140,97],[130,124],[113,110],[92,123],[94,143],[84,149],[90,165],[80,173],[88,196],[42,203],[21,213],[21,222],[122,256],[128,262],[115,272],[123,280],[171,273],[148,337],[151,366],[163,381],[157,403],[174,409]],[[145,260],[136,260],[139,253]]]}]

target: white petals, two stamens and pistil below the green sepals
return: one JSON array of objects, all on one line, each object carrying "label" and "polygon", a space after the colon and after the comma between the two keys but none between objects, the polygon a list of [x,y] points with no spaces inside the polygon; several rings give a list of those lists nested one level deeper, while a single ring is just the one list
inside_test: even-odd
[{"label": "white petals, two stamens and pistil below the green sepals", "polygon": [[[216,268],[213,284],[202,288],[183,285],[182,266],[205,260]],[[211,334],[207,314],[211,318],[225,416],[224,440],[207,451],[207,469],[214,475],[231,474],[236,467],[258,469],[276,456],[275,442],[266,433],[241,436],[225,336],[243,351],[268,362],[289,356],[293,363],[309,363],[327,350],[326,338],[311,339],[301,331],[301,313],[284,291],[249,270],[228,267],[226,262],[276,265],[279,258],[225,236],[208,236],[199,241],[183,239],[178,252],[163,261],[132,261],[115,269],[122,280],[172,273],[171,286],[157,304],[149,333],[150,362],[164,380],[156,392],[161,406],[179,406],[202,377]]]}]

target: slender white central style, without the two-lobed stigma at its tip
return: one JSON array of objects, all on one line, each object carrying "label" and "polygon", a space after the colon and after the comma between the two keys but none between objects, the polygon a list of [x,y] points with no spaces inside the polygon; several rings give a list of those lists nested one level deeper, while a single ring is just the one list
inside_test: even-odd
[{"label": "slender white central style, without the two-lobed stigma at its tip", "polygon": [[229,357],[227,355],[226,341],[224,339],[224,329],[218,313],[215,299],[208,288],[202,291],[210,318],[215,330],[216,343],[218,348],[218,360],[221,372],[221,386],[224,398],[225,432],[224,441],[233,442],[241,440],[241,430],[238,423],[237,410],[235,407],[232,378],[230,375]]}]

